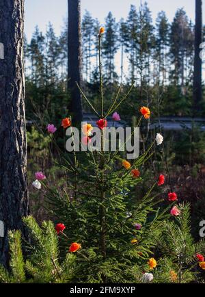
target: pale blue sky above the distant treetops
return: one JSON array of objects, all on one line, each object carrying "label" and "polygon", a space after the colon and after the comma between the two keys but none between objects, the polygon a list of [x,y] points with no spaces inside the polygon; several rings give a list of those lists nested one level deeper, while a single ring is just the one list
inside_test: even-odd
[{"label": "pale blue sky above the distant treetops", "polygon": [[[59,35],[64,23],[63,19],[67,15],[67,2],[67,0],[25,0],[25,34],[27,38],[31,38],[36,25],[40,27],[41,31],[45,31],[49,21],[54,25],[56,34]],[[169,21],[172,21],[176,10],[184,8],[189,18],[194,21],[195,0],[147,0],[147,2],[154,19],[159,11],[165,10]],[[205,0],[203,2],[205,5]],[[121,17],[126,18],[131,4],[138,7],[140,0],[81,0],[81,11],[83,14],[87,9],[103,25],[109,11],[113,12],[117,21]]]}]

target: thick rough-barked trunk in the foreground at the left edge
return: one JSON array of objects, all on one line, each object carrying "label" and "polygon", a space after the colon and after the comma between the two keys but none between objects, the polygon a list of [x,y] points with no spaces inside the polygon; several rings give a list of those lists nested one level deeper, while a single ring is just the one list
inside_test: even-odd
[{"label": "thick rough-barked trunk in the foreground at the left edge", "polygon": [[24,0],[0,0],[0,263],[8,265],[8,231],[20,229],[28,214],[26,176]]}]

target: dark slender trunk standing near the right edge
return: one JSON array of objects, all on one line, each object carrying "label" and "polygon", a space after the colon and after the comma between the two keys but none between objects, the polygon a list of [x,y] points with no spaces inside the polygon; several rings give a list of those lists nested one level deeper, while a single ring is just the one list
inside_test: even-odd
[{"label": "dark slender trunk standing near the right edge", "polygon": [[202,59],[200,44],[202,43],[202,0],[195,0],[195,57],[193,74],[194,109],[200,110],[202,100]]}]

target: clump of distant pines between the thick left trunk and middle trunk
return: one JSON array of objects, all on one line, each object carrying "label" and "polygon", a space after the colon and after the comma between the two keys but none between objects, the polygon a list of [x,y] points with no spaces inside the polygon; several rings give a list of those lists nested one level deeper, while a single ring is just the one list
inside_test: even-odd
[{"label": "clump of distant pines between the thick left trunk and middle trunk", "polygon": [[48,25],[45,36],[36,27],[31,42],[25,48],[28,65],[27,119],[37,121],[39,128],[49,120],[55,122],[56,114],[61,114],[63,109],[68,108],[69,96],[65,82],[67,77],[66,73],[61,73],[61,59],[65,51],[60,49],[60,39],[55,36],[51,24]]}]

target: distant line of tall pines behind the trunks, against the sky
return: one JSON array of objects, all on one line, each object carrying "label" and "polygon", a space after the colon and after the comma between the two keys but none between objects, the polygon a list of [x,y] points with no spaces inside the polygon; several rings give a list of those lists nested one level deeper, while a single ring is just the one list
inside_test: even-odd
[{"label": "distant line of tall pines behind the trunks, against the sky", "polygon": [[[85,12],[82,20],[83,81],[94,101],[98,90],[98,29],[100,23]],[[204,26],[205,40],[205,26]],[[27,66],[27,100],[35,105],[42,102],[50,114],[61,106],[68,106],[67,24],[59,37],[53,26],[48,25],[46,34],[38,27],[29,43],[25,42]],[[118,55],[120,73],[115,61]],[[121,55],[121,56],[120,56]],[[102,42],[102,61],[105,85],[110,86],[136,81],[133,98],[150,104],[157,97],[156,109],[163,99],[169,107],[163,107],[163,114],[189,114],[191,110],[194,58],[194,25],[182,8],[176,11],[169,23],[165,12],[159,12],[155,24],[148,4],[139,10],[131,5],[126,20],[116,22],[109,12],[105,19],[105,34]],[[128,70],[127,70],[128,68]],[[110,91],[110,92],[109,92]],[[136,100],[136,99],[135,99]],[[30,104],[28,105],[30,106]],[[203,109],[203,108],[202,108]]]}]

